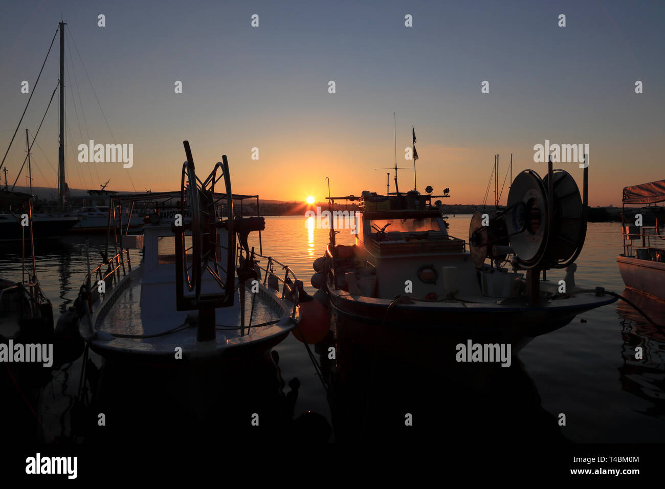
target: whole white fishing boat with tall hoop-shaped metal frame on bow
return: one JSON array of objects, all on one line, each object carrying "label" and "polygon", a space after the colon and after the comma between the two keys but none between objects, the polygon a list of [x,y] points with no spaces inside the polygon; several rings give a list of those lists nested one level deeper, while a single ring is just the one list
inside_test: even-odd
[{"label": "whole white fishing boat with tall hoop-shaped metal frame on bow", "polygon": [[[234,201],[258,196],[231,193],[226,156],[199,180],[184,146],[180,216],[152,216],[142,236],[123,230],[102,252],[102,263],[90,265],[63,319],[107,361],[186,365],[265,355],[295,327],[299,282],[289,267],[262,254],[264,218],[233,210]],[[221,193],[215,192],[219,180]],[[130,197],[131,205],[120,198],[118,206],[152,198]],[[251,232],[259,232],[258,252],[248,245]],[[132,249],[143,249],[138,265]]]}]

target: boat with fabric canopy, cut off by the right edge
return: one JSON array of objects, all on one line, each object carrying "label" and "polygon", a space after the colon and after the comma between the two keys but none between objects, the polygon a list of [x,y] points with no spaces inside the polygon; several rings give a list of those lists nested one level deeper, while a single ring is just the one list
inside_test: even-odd
[{"label": "boat with fabric canopy, cut off by the right edge", "polygon": [[646,206],[665,202],[665,180],[625,187],[622,202],[624,252],[616,257],[621,278],[628,289],[665,301],[665,236],[660,236],[658,218],[654,226],[644,226],[639,213],[633,224],[624,218],[626,205]]}]

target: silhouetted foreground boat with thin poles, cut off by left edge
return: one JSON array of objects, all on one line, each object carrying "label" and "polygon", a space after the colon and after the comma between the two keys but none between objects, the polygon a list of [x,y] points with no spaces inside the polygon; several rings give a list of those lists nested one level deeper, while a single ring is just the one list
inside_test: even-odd
[{"label": "silhouetted foreground boat with thin poles, cut off by left edge", "polygon": [[37,279],[31,197],[22,192],[0,192],[0,206],[15,208],[27,218],[27,226],[13,222],[23,242],[21,280],[0,277],[0,339],[3,340],[23,341],[38,335],[53,335],[53,307]]}]

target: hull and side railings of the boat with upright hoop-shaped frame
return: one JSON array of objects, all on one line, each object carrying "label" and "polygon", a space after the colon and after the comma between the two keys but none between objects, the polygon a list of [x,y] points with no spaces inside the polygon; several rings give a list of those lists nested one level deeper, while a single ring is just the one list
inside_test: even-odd
[{"label": "hull and side railings of the boat with upright hoop-shaped frame", "polygon": [[[215,309],[216,338],[197,341],[196,321],[188,319],[189,315],[196,316],[196,311],[175,310],[172,283],[142,283],[143,267],[144,264],[132,269],[103,301],[96,301],[94,313],[79,315],[78,331],[82,339],[89,341],[92,351],[112,363],[182,366],[246,359],[265,355],[295,327],[295,321],[288,317],[289,305],[261,284],[257,301],[275,311],[278,317],[275,324],[245,327],[245,334],[239,334],[239,308],[245,307],[245,317],[249,318],[251,303],[237,300],[234,307]],[[254,325],[262,321],[257,313],[258,309]],[[186,327],[169,331],[168,324]],[[122,337],[137,334],[142,336]]]}]

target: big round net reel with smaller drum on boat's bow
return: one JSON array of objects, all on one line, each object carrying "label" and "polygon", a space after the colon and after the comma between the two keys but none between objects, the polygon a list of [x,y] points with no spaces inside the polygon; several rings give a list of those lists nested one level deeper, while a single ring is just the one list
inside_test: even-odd
[{"label": "big round net reel with smaller drum on boat's bow", "polygon": [[487,257],[503,261],[505,253],[514,254],[515,269],[565,268],[573,263],[587,235],[588,168],[584,180],[583,202],[573,176],[552,170],[551,162],[544,179],[533,170],[520,172],[505,210],[494,214],[487,226],[481,226],[479,212],[471,218],[469,249],[476,267]]}]

